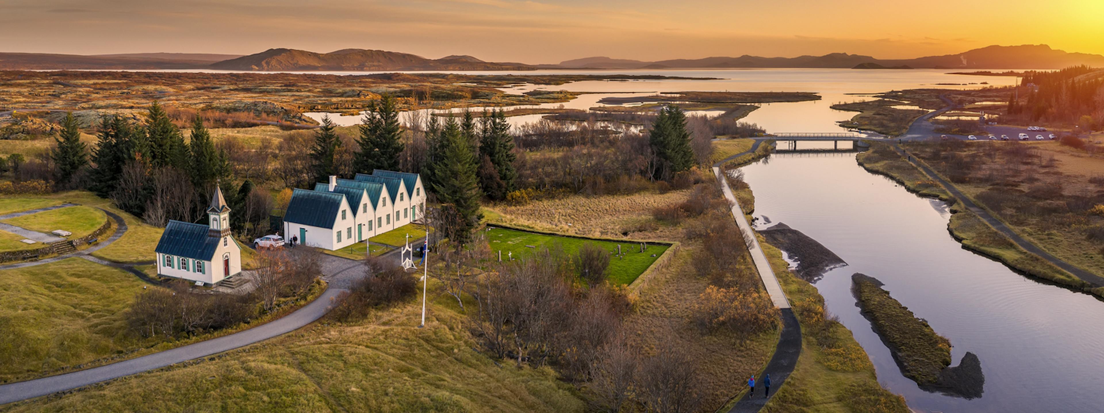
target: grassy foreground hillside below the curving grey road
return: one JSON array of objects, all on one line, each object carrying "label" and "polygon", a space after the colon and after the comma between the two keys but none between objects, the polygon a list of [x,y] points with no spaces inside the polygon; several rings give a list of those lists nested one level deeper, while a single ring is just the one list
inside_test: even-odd
[{"label": "grassy foreground hillside below the curving grey road", "polygon": [[[432,286],[432,285],[431,285]],[[452,298],[442,298],[442,303]],[[455,302],[454,302],[455,303]],[[4,412],[583,412],[548,368],[497,365],[473,351],[465,316],[429,303],[316,323],[214,360],[114,380]]]}]

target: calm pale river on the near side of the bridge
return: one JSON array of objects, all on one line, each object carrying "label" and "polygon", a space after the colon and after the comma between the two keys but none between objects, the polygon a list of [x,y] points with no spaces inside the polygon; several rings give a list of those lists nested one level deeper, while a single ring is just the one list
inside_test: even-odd
[{"label": "calm pale river on the near side of the bridge", "polygon": [[[882,385],[923,412],[1100,412],[1104,303],[1029,280],[962,248],[947,205],[866,172],[854,153],[772,155],[743,167],[755,216],[820,241],[848,262],[816,286],[870,355]],[[763,222],[760,219],[758,222]],[[856,307],[861,272],[954,346],[981,361],[985,392],[965,400],[921,390]]]}]

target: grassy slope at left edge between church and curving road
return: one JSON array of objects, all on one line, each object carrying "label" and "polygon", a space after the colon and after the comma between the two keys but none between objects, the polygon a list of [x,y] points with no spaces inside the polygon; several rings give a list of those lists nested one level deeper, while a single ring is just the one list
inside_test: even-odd
[{"label": "grassy slope at left edge between church and curving road", "polygon": [[34,376],[140,344],[124,312],[146,284],[79,258],[0,271],[0,380]]}]

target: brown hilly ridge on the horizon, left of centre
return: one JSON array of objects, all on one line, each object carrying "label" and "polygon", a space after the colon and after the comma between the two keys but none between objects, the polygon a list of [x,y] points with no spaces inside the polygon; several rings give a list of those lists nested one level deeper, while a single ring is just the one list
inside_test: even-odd
[{"label": "brown hilly ridge on the horizon, left of centre", "polygon": [[211,64],[226,70],[523,70],[533,66],[484,62],[453,55],[437,59],[410,53],[346,48],[315,53],[294,48],[267,51]]}]

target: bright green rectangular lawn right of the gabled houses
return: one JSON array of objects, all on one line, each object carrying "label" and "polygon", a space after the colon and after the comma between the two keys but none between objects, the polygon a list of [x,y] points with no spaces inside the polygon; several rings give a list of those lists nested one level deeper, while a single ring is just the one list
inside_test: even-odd
[{"label": "bright green rectangular lawn right of the gabled houses", "polygon": [[[499,250],[502,251],[502,260],[507,259],[508,252],[513,252],[514,259],[526,258],[532,254],[533,251],[538,251],[544,247],[552,248],[556,243],[563,247],[563,251],[570,256],[578,253],[578,249],[587,242],[598,244],[606,251],[609,251],[611,254],[617,253],[617,246],[620,244],[622,252],[625,257],[611,258],[609,269],[606,270],[606,276],[615,284],[633,283],[633,280],[636,280],[636,278],[639,276],[644,270],[647,270],[648,265],[651,265],[651,263],[655,262],[659,256],[662,256],[664,251],[667,251],[668,248],[668,246],[648,244],[644,252],[640,252],[640,244],[634,241],[618,242],[590,240],[526,232],[506,228],[491,228],[487,231],[487,239],[490,242],[490,249],[492,252],[497,254]],[[532,246],[533,248],[530,248],[529,246]]]}]

